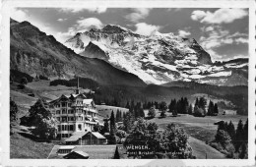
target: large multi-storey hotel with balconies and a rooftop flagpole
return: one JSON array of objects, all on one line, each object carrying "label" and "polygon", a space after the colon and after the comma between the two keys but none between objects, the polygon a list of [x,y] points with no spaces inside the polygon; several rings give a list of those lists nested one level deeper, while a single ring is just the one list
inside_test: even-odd
[{"label": "large multi-storey hotel with balconies and a rooftop flagpole", "polygon": [[50,101],[49,110],[57,120],[57,138],[67,139],[74,132],[92,132],[97,120],[97,111],[94,100],[87,98],[83,93],[61,95]]}]

